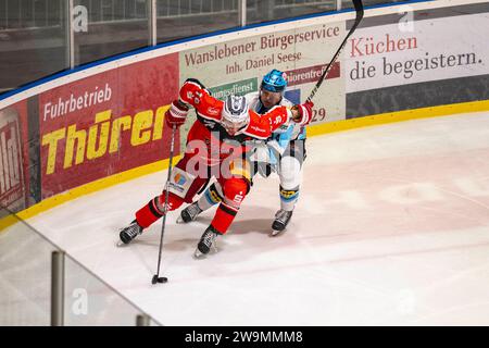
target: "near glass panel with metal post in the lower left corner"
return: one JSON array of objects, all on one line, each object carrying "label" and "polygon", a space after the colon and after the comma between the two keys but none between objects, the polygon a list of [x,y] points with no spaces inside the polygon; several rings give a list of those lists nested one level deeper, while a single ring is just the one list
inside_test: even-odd
[{"label": "near glass panel with metal post in the lower left corner", "polygon": [[0,287],[0,326],[161,325],[3,208]]}]

